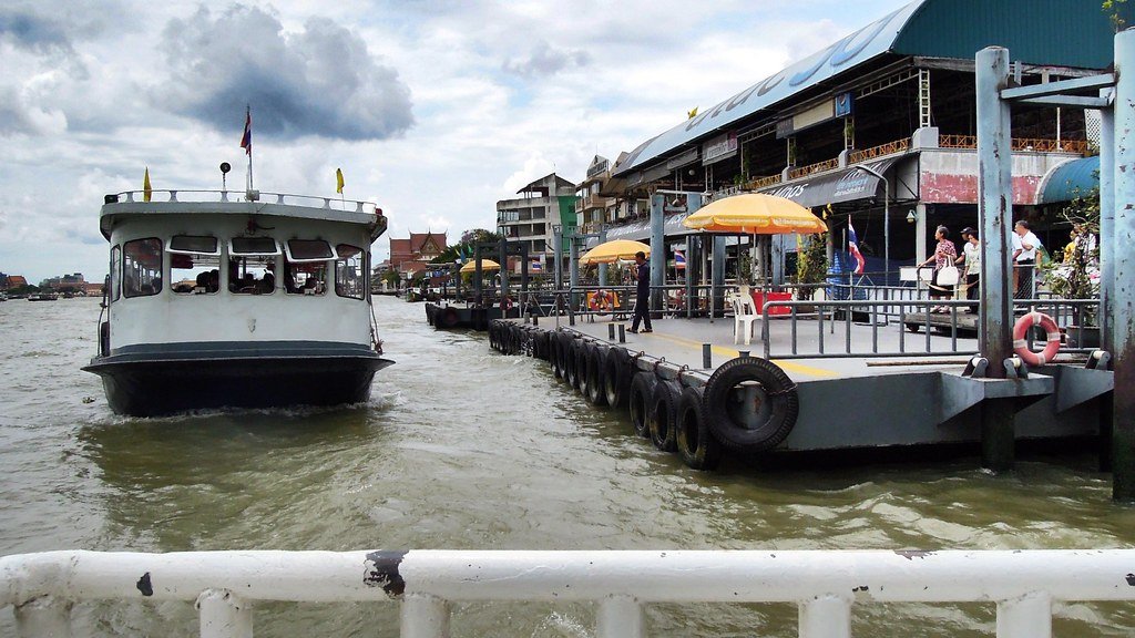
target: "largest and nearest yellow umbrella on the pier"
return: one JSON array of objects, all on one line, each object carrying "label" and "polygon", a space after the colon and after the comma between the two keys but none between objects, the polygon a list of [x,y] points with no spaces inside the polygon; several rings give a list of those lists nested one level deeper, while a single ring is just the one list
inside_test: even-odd
[{"label": "largest and nearest yellow umbrella on the pier", "polygon": [[792,200],[763,193],[713,201],[683,219],[682,225],[711,233],[753,235],[812,235],[827,230],[827,225],[810,210]]}]

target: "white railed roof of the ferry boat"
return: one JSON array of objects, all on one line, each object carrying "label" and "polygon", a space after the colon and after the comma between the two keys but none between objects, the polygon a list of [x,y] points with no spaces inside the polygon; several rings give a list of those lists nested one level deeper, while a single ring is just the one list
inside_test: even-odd
[{"label": "white railed roof of the ferry boat", "polygon": [[370,229],[371,242],[387,226],[382,209],[359,200],[259,191],[126,191],[106,196],[99,229],[109,241],[116,219],[151,215],[257,215],[359,224]]}]

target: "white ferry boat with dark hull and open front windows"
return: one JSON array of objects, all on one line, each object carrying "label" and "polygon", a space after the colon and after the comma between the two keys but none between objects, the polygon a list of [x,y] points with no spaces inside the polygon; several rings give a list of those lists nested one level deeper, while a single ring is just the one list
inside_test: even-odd
[{"label": "white ferry boat with dark hull and open front windows", "polygon": [[107,195],[110,276],[83,370],[115,412],[140,417],[365,401],[393,363],[369,282],[386,224],[373,203],[330,198]]}]

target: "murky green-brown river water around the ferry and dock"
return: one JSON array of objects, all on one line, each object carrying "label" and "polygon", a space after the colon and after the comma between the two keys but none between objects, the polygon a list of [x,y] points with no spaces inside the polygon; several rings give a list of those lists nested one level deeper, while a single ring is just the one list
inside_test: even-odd
[{"label": "murky green-brown river water around the ferry and dock", "polygon": [[[114,415],[96,300],[0,303],[0,554],[190,549],[986,549],[1135,546],[1090,456],[715,473],[633,436],[544,362],[376,300],[367,405]],[[855,607],[856,636],[991,636],[993,605]],[[187,603],[76,606],[77,635],[195,636]],[[587,604],[455,607],[454,636],[589,637]],[[649,605],[650,636],[796,636],[792,605]],[[261,604],[258,636],[397,636],[397,605]],[[0,611],[0,635],[15,631]],[[1135,605],[1069,604],[1056,636],[1132,636]]]}]

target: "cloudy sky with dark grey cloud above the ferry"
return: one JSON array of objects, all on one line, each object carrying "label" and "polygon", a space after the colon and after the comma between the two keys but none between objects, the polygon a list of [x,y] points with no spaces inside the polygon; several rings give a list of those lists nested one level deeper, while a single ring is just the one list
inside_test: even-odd
[{"label": "cloudy sky with dark grey cloud above the ferry", "polygon": [[347,199],[411,230],[493,228],[908,0],[3,0],[0,271],[99,280],[102,195],[257,187]]}]

